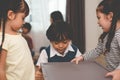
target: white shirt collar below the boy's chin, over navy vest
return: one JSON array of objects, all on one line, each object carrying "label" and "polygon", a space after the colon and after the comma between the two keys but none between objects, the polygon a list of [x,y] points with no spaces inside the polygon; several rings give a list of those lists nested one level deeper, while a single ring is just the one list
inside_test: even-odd
[{"label": "white shirt collar below the boy's chin, over navy vest", "polygon": [[75,52],[74,49],[73,49],[72,46],[71,46],[71,42],[69,43],[67,49],[65,50],[64,55],[61,55],[60,53],[58,53],[58,52],[53,48],[52,44],[50,45],[50,57],[53,57],[53,56],[55,56],[55,55],[64,57],[64,56],[68,53],[68,51]]}]

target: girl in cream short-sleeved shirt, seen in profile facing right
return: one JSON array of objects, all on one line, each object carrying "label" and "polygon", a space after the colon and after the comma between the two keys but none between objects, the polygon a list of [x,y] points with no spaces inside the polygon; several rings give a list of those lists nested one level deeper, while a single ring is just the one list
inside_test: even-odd
[{"label": "girl in cream short-sleeved shirt, seen in profile facing right", "polygon": [[24,0],[0,0],[0,80],[35,80],[30,50],[18,33],[28,14]]}]

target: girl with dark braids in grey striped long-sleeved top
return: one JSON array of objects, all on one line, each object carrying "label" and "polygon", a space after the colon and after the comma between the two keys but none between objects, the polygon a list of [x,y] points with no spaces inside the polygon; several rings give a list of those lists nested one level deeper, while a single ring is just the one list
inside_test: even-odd
[{"label": "girl with dark braids in grey striped long-sleeved top", "polygon": [[112,80],[120,80],[120,0],[102,0],[97,6],[98,24],[103,30],[95,49],[74,58],[71,62],[89,60],[105,55],[106,67]]}]

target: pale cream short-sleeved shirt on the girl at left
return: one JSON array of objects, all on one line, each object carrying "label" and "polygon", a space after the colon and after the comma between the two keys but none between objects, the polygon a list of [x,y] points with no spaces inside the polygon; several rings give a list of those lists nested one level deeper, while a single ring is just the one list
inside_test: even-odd
[{"label": "pale cream short-sleeved shirt on the girl at left", "polygon": [[[0,43],[2,33],[0,33]],[[27,42],[22,35],[5,34],[3,49],[7,51],[7,80],[35,80],[35,69]]]}]

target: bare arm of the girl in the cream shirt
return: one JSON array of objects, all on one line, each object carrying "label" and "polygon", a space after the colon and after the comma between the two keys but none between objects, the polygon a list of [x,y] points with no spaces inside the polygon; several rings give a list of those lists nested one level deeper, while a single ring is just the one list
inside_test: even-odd
[{"label": "bare arm of the girl in the cream shirt", "polygon": [[5,65],[6,65],[7,51],[2,50],[0,54],[0,80],[6,79]]}]

